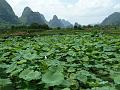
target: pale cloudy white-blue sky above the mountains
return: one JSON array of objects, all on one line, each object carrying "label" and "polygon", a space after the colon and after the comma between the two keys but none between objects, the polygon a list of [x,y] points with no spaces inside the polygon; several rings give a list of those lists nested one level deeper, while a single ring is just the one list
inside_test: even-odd
[{"label": "pale cloudy white-blue sky above the mountains", "polygon": [[21,16],[29,6],[44,14],[49,21],[53,15],[80,24],[100,23],[113,12],[120,12],[120,0],[7,0],[16,15]]}]

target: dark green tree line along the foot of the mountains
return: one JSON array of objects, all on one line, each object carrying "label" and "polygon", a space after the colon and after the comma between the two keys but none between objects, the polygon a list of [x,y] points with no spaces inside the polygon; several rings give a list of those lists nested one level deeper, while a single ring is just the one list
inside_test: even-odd
[{"label": "dark green tree line along the foot of the mountains", "polygon": [[[40,25],[38,23],[32,23],[31,25],[13,25],[11,26],[12,30],[23,30],[23,29],[38,29],[38,30],[52,30],[53,28],[49,27],[47,24]],[[64,28],[57,27],[54,28],[57,30],[61,30]],[[53,29],[53,30],[54,30]],[[74,29],[74,30],[86,30],[86,29],[97,29],[97,30],[108,30],[108,29],[120,29],[120,26],[115,26],[115,25],[107,25],[107,26],[102,26],[100,24],[95,24],[95,25],[80,25],[78,23],[75,23],[72,28],[65,28],[65,29]]]}]

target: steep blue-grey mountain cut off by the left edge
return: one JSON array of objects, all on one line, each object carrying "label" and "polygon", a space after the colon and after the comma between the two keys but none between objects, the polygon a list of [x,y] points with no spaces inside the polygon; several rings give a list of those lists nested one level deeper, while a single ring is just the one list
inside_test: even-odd
[{"label": "steep blue-grey mountain cut off by the left edge", "polygon": [[16,24],[18,22],[18,17],[11,6],[5,0],[0,0],[0,23]]}]

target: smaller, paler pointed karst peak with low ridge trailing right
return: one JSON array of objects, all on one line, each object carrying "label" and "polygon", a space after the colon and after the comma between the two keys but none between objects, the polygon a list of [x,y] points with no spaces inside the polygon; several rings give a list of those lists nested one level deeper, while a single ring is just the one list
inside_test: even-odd
[{"label": "smaller, paler pointed karst peak with low ridge trailing right", "polygon": [[57,27],[61,27],[61,28],[69,28],[69,27],[73,27],[73,25],[64,20],[64,19],[58,19],[58,17],[56,15],[53,16],[53,19],[49,21],[49,26],[52,28],[57,28]]}]

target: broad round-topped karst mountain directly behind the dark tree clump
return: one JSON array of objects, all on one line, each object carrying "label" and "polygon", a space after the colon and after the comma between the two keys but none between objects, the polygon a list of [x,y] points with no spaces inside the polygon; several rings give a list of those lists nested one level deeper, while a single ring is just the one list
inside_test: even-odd
[{"label": "broad round-topped karst mountain directly behind the dark tree clump", "polygon": [[19,18],[22,24],[30,25],[32,23],[46,24],[47,21],[45,17],[39,12],[33,12],[29,7],[26,7]]}]

